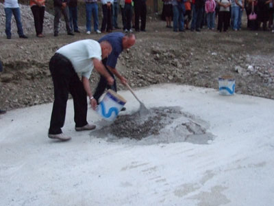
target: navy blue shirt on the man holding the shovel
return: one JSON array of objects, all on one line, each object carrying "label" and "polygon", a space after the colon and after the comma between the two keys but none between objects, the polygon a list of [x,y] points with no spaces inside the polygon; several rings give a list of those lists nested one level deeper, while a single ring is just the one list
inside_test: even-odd
[{"label": "navy blue shirt on the man holding the shovel", "polygon": [[123,37],[125,34],[122,32],[113,32],[107,34],[99,39],[99,43],[102,41],[108,41],[112,45],[112,52],[108,56],[106,65],[112,68],[116,67],[116,63],[119,55],[123,52]]}]

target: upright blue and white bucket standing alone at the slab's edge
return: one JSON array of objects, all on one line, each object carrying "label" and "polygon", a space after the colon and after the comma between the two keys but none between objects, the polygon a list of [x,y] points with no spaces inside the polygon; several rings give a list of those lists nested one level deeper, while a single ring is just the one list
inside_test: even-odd
[{"label": "upright blue and white bucket standing alone at the slab's edge", "polygon": [[235,92],[235,78],[232,76],[221,76],[219,78],[219,94],[220,95],[234,95]]}]

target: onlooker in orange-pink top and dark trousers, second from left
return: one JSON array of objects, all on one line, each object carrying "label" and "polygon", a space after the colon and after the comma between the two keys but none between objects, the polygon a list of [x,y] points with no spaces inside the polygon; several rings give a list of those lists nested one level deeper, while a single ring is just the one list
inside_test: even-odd
[{"label": "onlooker in orange-pink top and dark trousers, second from left", "polygon": [[44,16],[45,16],[45,1],[46,0],[30,0],[29,5],[34,14],[34,26],[37,37],[45,37],[42,34]]}]

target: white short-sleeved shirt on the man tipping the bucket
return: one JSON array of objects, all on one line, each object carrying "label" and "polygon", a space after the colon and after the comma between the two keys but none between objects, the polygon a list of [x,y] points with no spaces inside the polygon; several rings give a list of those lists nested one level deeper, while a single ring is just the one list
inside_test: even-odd
[{"label": "white short-sleeved shirt on the man tipping the bucket", "polygon": [[94,68],[92,58],[101,60],[102,55],[100,44],[92,39],[76,41],[65,45],[58,49],[56,53],[66,56],[71,61],[75,72],[88,79]]}]

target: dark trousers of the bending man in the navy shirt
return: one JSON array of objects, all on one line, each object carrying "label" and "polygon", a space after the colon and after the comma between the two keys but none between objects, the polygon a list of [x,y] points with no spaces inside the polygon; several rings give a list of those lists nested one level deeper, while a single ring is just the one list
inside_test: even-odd
[{"label": "dark trousers of the bending man in the navy shirt", "polygon": [[112,76],[112,78],[114,79],[114,84],[112,86],[110,86],[108,84],[107,80],[105,80],[105,78],[103,76],[100,76],[99,83],[97,84],[97,88],[96,88],[95,93],[93,95],[95,100],[97,100],[97,103],[99,103],[98,100],[101,97],[101,95],[103,94],[103,92],[105,91],[105,88],[112,89],[115,92],[117,91],[116,80],[114,78],[114,74],[108,69],[108,67],[106,67],[107,60],[108,60],[108,58],[104,58],[102,60],[102,62],[103,62],[103,65],[105,65],[105,69],[107,69],[108,73],[110,73],[110,76]]}]

